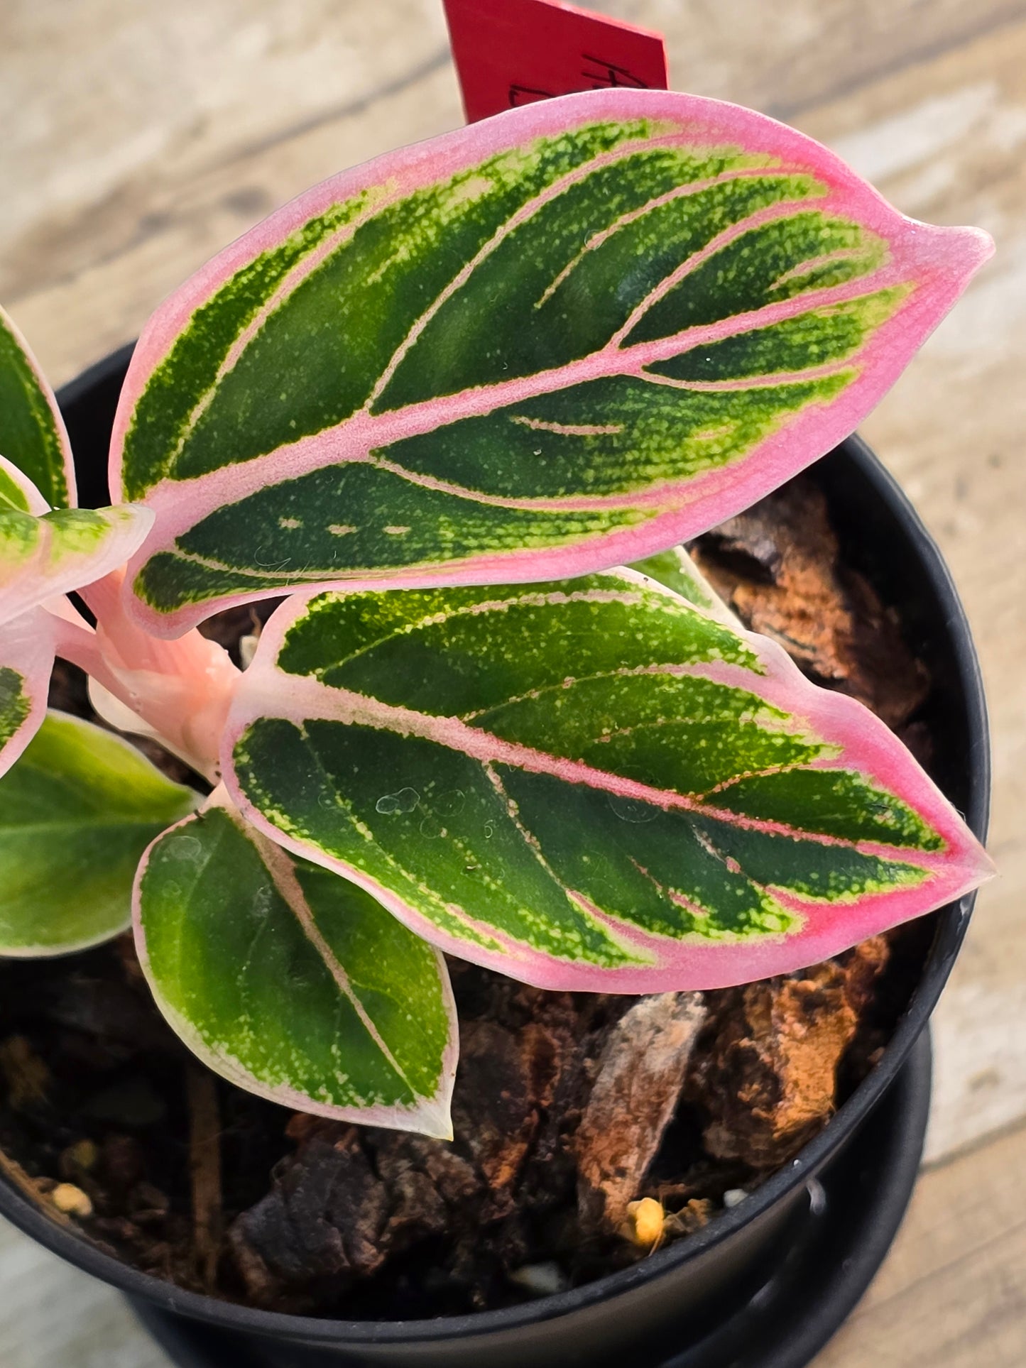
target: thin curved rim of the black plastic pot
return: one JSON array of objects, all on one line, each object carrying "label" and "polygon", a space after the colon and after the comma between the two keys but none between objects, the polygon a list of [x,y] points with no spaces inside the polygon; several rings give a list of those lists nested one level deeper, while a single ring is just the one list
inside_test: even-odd
[{"label": "thin curved rim of the black plastic pot", "polygon": [[[131,347],[122,347],[90,367],[57,395],[62,408],[83,398],[100,380],[112,378],[127,365]],[[960,692],[969,735],[966,755],[969,800],[966,821],[977,837],[986,837],[990,802],[990,752],[986,703],[979,662],[966,614],[955,590],[951,572],[933,538],[893,476],[858,435],[840,443],[839,450],[856,468],[886,512],[900,524],[906,540],[919,562],[936,601],[943,606],[953,680]],[[854,1089],[824,1130],[803,1146],[791,1164],[778,1170],[744,1202],[717,1213],[706,1227],[674,1245],[657,1250],[643,1263],[606,1274],[602,1278],[562,1293],[517,1306],[480,1311],[462,1316],[439,1316],[432,1320],[350,1321],[321,1316],[298,1316],[289,1312],[263,1311],[238,1302],[220,1301],[202,1293],[186,1291],[174,1283],[145,1274],[92,1245],[78,1231],[57,1224],[44,1208],[33,1204],[10,1178],[0,1174],[0,1215],[47,1249],[100,1278],[130,1297],[152,1301],[166,1311],[187,1316],[227,1331],[244,1331],[271,1338],[287,1338],[306,1345],[338,1346],[360,1343],[439,1342],[512,1331],[524,1324],[543,1321],[581,1311],[595,1302],[631,1291],[661,1275],[691,1263],[702,1253],[767,1212],[793,1189],[814,1176],[829,1155],[837,1150],[866,1118],[893,1082],[912,1045],[928,1023],[966,934],[975,892],[951,903],[934,915],[937,929],[928,952],[923,974],[911,1001],[900,1018],[881,1060]]]}]

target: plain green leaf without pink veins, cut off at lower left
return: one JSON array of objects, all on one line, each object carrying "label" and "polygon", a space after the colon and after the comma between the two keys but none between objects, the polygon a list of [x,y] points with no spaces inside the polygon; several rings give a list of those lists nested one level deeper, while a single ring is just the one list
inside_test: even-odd
[{"label": "plain green leaf without pink veins, cut off at lower left", "polygon": [[63,955],[124,930],[140,856],[196,799],[119,736],[49,713],[0,780],[0,955]]}]

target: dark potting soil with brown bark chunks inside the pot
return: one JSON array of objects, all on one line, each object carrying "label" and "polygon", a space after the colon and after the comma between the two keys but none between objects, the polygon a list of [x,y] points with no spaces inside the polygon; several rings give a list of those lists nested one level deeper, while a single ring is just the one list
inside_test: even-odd
[{"label": "dark potting soil with brown bark chunks inside the pot", "polygon": [[[743,621],[929,767],[926,672],[840,562],[811,480],[692,551]],[[211,635],[237,650],[271,607]],[[60,662],[51,702],[92,715]],[[192,1290],[357,1320],[510,1305],[685,1237],[792,1159],[878,1057],[932,932],[923,918],[798,974],[651,997],[547,993],[450,959],[451,1144],[290,1114],[216,1078],[153,1007],[129,936],[0,963],[0,1168]]]}]

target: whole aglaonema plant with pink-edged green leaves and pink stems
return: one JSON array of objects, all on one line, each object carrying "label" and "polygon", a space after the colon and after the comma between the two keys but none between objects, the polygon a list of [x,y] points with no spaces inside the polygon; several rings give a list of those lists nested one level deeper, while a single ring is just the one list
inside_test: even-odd
[{"label": "whole aglaonema plant with pink-edged green leaves and pink stems", "polygon": [[[140,959],[201,1059],[446,1135],[442,951],[722,986],[974,888],[911,755],[681,543],[848,435],[989,252],[758,114],[591,92],[339,175],[186,282],[124,382],[116,508],[67,506],[5,330],[7,952],[120,929],[138,862]],[[197,625],[268,595],[241,672]],[[212,792],[44,722],[55,653]]]}]

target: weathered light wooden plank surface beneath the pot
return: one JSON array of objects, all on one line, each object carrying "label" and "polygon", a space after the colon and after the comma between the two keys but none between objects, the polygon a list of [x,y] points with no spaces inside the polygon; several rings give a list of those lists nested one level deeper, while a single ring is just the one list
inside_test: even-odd
[{"label": "weathered light wooden plank surface beneath the pot", "polygon": [[[1026,1364],[1026,3],[594,0],[677,89],[821,138],[999,256],[863,432],[936,534],[992,711],[1001,878],[936,1015],[929,1168],[818,1368]],[[440,0],[0,0],[0,300],[56,383],[331,172],[461,122]],[[3,1368],[159,1368],[107,1289],[0,1231]]]}]

